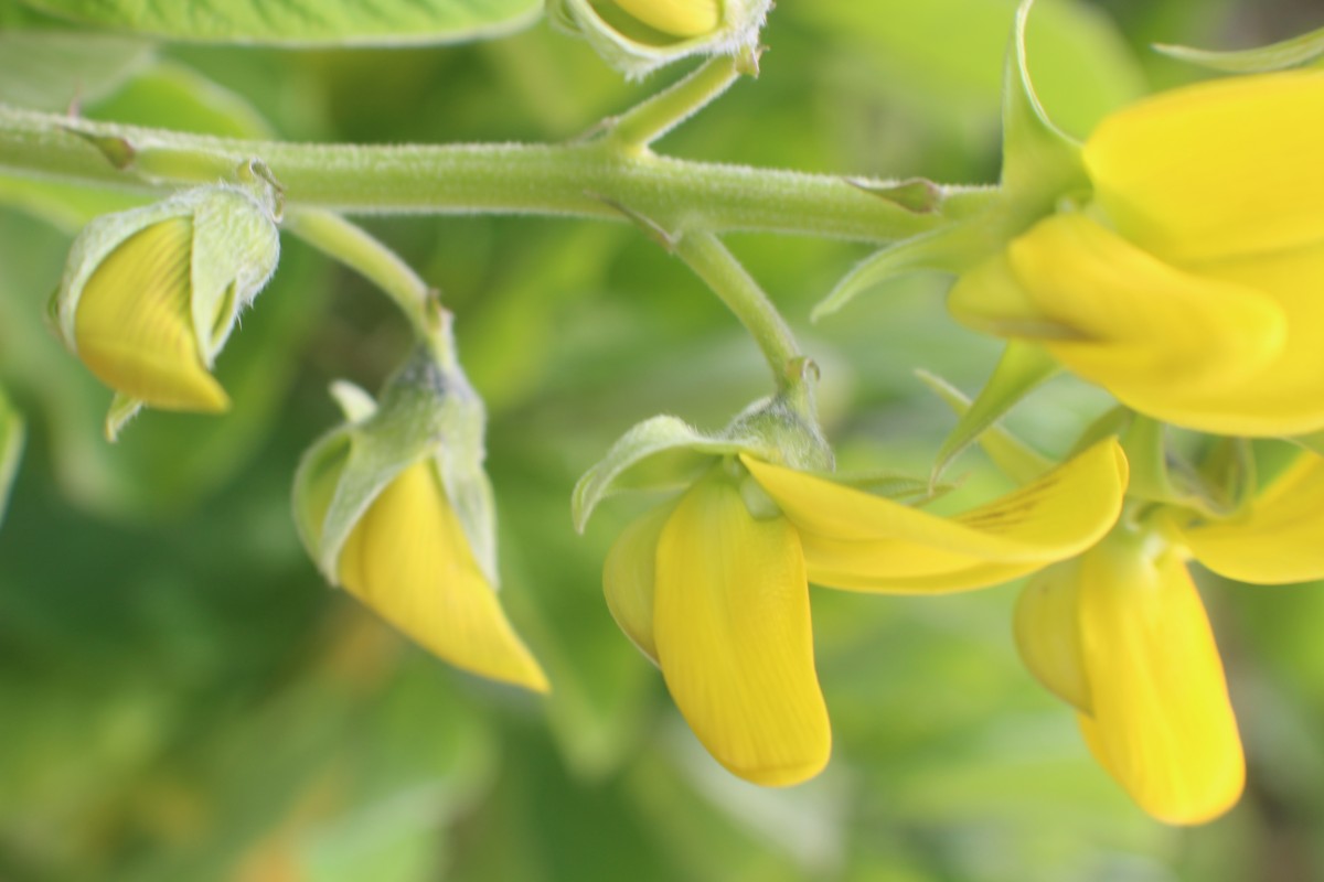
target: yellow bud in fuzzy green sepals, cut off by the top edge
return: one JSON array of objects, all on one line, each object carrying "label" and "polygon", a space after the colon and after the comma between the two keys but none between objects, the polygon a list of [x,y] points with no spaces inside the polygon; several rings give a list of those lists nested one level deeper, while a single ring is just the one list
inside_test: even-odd
[{"label": "yellow bud in fuzzy green sepals, cut off by the top edge", "polygon": [[772,0],[547,0],[552,21],[629,77],[688,56],[753,49],[771,7]]}]

